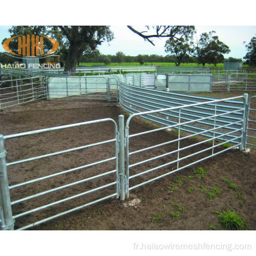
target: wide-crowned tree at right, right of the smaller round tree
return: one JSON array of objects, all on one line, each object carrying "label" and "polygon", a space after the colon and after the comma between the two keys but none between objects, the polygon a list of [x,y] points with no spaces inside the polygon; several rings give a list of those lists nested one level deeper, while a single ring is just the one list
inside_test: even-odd
[{"label": "wide-crowned tree at right, right of the smaller round tree", "polygon": [[191,55],[196,57],[203,67],[206,63],[217,63],[224,59],[222,54],[229,53],[229,47],[214,35],[215,31],[202,33],[200,39],[194,43],[194,49]]}]

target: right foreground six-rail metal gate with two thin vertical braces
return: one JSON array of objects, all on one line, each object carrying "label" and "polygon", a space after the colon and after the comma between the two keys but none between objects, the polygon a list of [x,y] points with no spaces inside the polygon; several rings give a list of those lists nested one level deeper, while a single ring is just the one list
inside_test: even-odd
[{"label": "right foreground six-rail metal gate with two thin vertical braces", "polygon": [[[243,100],[243,103],[238,108],[223,108],[223,105],[228,105],[228,100],[239,98]],[[120,99],[124,100],[122,94]],[[242,150],[246,132],[245,117],[248,95],[245,94],[244,96],[233,97],[228,100],[212,100],[145,112],[142,111],[146,107],[142,109],[143,107],[140,106],[140,111],[138,111],[138,106],[136,105],[132,110],[132,106],[125,105],[123,101],[123,108],[130,113],[134,112],[127,119],[125,126],[125,195],[129,197],[129,191],[132,189],[152,183],[157,179],[232,148],[237,147],[239,150]],[[150,102],[148,102],[148,105],[150,105]],[[213,106],[212,111],[205,115],[205,110],[209,109],[210,106]],[[198,114],[197,117],[193,117],[191,113],[199,113],[199,108],[204,109],[204,116]],[[175,115],[176,112],[177,115]],[[187,112],[190,112],[189,120]],[[149,120],[155,124],[163,125],[163,127],[156,125],[156,129],[146,129],[146,131],[141,133],[133,134],[130,129],[130,122],[136,116],[143,118],[146,120],[145,122]],[[222,121],[222,119],[225,121]],[[189,126],[192,127],[190,131],[188,131]],[[194,129],[194,127],[198,126],[201,128],[200,130]],[[160,138],[158,132],[166,129],[174,129],[177,136],[173,138],[173,136],[169,136],[166,133],[166,137],[162,137],[161,134]],[[184,135],[182,134],[183,132],[185,132]],[[145,148],[142,141],[148,140],[147,135],[150,133],[154,134],[157,138],[155,139],[157,144]],[[139,140],[141,142],[136,143]],[[151,140],[153,140],[152,135]],[[131,151],[130,144],[135,145],[133,151]]]}]

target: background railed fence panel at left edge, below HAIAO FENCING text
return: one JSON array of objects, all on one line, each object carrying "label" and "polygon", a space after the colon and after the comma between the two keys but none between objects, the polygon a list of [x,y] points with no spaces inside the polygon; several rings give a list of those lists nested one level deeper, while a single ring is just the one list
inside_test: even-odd
[{"label": "background railed fence panel at left edge, below HAIAO FENCING text", "polygon": [[4,80],[0,84],[0,110],[47,98],[46,81],[41,76]]}]

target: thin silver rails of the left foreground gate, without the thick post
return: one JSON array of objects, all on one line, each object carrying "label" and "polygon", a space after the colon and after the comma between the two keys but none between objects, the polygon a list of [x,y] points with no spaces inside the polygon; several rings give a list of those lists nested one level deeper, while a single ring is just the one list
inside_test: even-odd
[{"label": "thin silver rails of the left foreground gate, without the thick post", "polygon": [[[56,177],[56,176],[68,174],[68,173],[71,173],[71,172],[75,172],[76,170],[79,170],[79,169],[84,169],[84,168],[87,168],[87,167],[96,166],[97,164],[102,164],[102,163],[106,163],[106,162],[110,162],[110,161],[115,161],[115,169],[109,170],[107,172],[103,172],[103,173],[98,174],[98,175],[93,175],[91,177],[87,177],[87,178],[84,178],[84,179],[81,179],[79,181],[75,181],[75,182],[72,182],[72,183],[69,183],[69,184],[65,184],[65,185],[58,186],[58,187],[55,187],[55,188],[52,188],[52,189],[48,189],[48,190],[42,191],[40,193],[29,195],[29,196],[26,196],[24,198],[20,198],[20,199],[14,200],[14,201],[10,201],[10,205],[13,206],[15,204],[25,202],[27,200],[33,200],[35,198],[38,198],[38,197],[41,197],[41,196],[45,196],[45,195],[47,195],[49,193],[53,193],[53,192],[56,192],[56,191],[59,191],[59,190],[65,189],[65,188],[69,188],[71,186],[75,186],[75,185],[78,185],[78,184],[81,184],[81,183],[84,183],[84,182],[88,182],[88,181],[91,181],[91,180],[94,180],[94,179],[98,179],[98,178],[104,177],[106,175],[114,175],[115,176],[115,182],[111,182],[109,184],[105,184],[105,185],[102,185],[102,186],[99,186],[99,187],[96,187],[96,188],[84,191],[84,192],[82,192],[82,193],[80,193],[78,195],[73,195],[73,196],[68,197],[68,198],[63,198],[61,200],[58,200],[58,201],[55,201],[55,202],[52,202],[52,203],[48,203],[46,205],[39,206],[37,208],[34,208],[34,209],[31,209],[31,210],[22,212],[20,214],[17,214],[15,216],[13,216],[12,217],[13,219],[17,219],[19,217],[23,217],[25,215],[32,214],[35,211],[46,209],[46,208],[51,207],[53,205],[57,205],[59,203],[63,203],[63,202],[66,202],[66,201],[69,201],[69,200],[72,200],[72,199],[75,199],[75,198],[87,195],[89,193],[93,193],[94,191],[97,191],[97,190],[100,190],[100,189],[104,189],[106,187],[110,187],[110,186],[114,186],[114,185],[116,187],[115,188],[115,193],[112,194],[111,197],[113,197],[113,195],[114,195],[114,196],[116,196],[116,198],[118,198],[119,197],[118,129],[117,129],[117,124],[116,124],[116,122],[113,119],[111,119],[111,118],[104,118],[104,119],[99,119],[99,120],[86,121],[86,122],[69,124],[69,125],[62,125],[62,126],[57,126],[57,127],[51,127],[49,129],[40,129],[40,130],[36,130],[36,131],[25,132],[25,133],[18,133],[18,134],[13,134],[13,135],[6,135],[6,136],[2,136],[1,137],[1,138],[3,138],[3,140],[15,139],[15,138],[20,138],[20,137],[24,137],[24,136],[37,135],[37,134],[41,134],[41,133],[47,133],[47,132],[64,130],[64,129],[70,129],[70,128],[73,128],[73,127],[79,127],[79,126],[90,125],[90,124],[98,124],[98,123],[102,123],[102,122],[112,122],[114,124],[114,131],[115,131],[114,139],[109,139],[109,140],[105,140],[105,141],[96,142],[96,143],[93,143],[93,144],[88,144],[88,145],[84,145],[84,146],[70,148],[68,150],[63,150],[63,151],[59,151],[59,152],[45,154],[45,155],[41,155],[41,156],[37,156],[37,157],[32,157],[32,158],[27,158],[27,159],[23,159],[23,160],[13,161],[13,162],[6,163],[5,166],[9,167],[9,166],[15,165],[15,164],[25,163],[25,162],[29,162],[29,161],[33,161],[33,160],[38,160],[38,159],[41,159],[41,158],[52,157],[52,156],[56,156],[56,155],[59,155],[59,154],[74,152],[74,151],[82,150],[84,148],[89,148],[89,147],[98,146],[98,145],[102,145],[102,144],[106,144],[106,143],[113,143],[113,142],[115,143],[115,156],[107,158],[107,159],[102,159],[100,161],[93,162],[93,163],[90,163],[90,164],[78,166],[78,167],[75,167],[75,168],[72,168],[72,169],[68,169],[68,170],[65,170],[65,171],[62,171],[62,172],[59,172],[59,173],[53,173],[53,174],[45,176],[45,177],[40,177],[40,178],[36,178],[36,179],[33,179],[33,180],[25,181],[25,182],[22,182],[22,183],[14,184],[14,185],[9,186],[9,191],[11,191],[14,188],[18,188],[18,187],[25,186],[25,185],[28,185],[28,184],[36,183],[36,182],[39,182],[39,181],[42,181],[42,180],[46,180],[46,179],[50,179],[50,178],[53,178],[53,177]],[[0,148],[0,150],[2,151],[3,149]],[[1,172],[2,172],[2,170],[1,170]],[[2,194],[1,194],[1,196],[3,198]],[[109,198],[109,197],[104,197],[104,198]],[[76,207],[74,209],[70,209],[70,210],[66,211],[65,213],[67,214],[69,212],[72,212],[73,210],[76,210],[76,209],[79,209],[79,208],[82,208],[82,207],[86,207],[86,206],[91,205],[93,203],[99,202],[100,200],[103,200],[104,198],[94,200],[94,201],[92,201],[90,203],[87,203],[87,204],[83,204],[83,205],[81,205],[79,207]],[[4,200],[6,200],[6,198],[4,198]],[[28,225],[26,227],[20,228],[20,230],[29,228],[29,227],[34,226],[34,225],[38,225],[40,223],[46,222],[48,220],[51,220],[53,218],[57,218],[59,216],[62,216],[63,214],[64,213],[61,212],[58,215],[52,216],[50,218],[41,220],[41,221],[33,223],[33,224],[30,224],[30,225]]]}]

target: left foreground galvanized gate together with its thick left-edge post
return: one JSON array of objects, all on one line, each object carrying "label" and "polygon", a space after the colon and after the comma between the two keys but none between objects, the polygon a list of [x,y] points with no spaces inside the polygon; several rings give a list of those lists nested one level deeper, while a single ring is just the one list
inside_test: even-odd
[{"label": "left foreground galvanized gate together with its thick left-edge post", "polygon": [[[74,129],[74,127],[80,127],[80,126],[92,125],[92,124],[99,124],[99,123],[102,123],[102,122],[111,122],[111,123],[114,124],[114,129],[113,129],[114,130],[114,136],[113,136],[114,138],[112,137],[109,140],[99,141],[99,142],[95,142],[95,143],[92,143],[92,144],[87,144],[87,145],[83,145],[83,146],[79,146],[79,147],[69,148],[67,150],[62,150],[62,151],[49,153],[49,154],[45,154],[45,155],[40,155],[40,156],[36,156],[36,157],[29,157],[29,158],[26,158],[26,159],[21,159],[21,160],[12,161],[12,162],[6,162],[6,153],[7,152],[5,150],[5,145],[4,145],[4,141],[6,141],[6,140],[16,139],[16,138],[20,138],[20,137],[24,137],[24,136],[38,135],[38,134],[42,134],[42,133],[49,133],[49,132],[59,131],[59,130],[63,130],[63,129],[72,129],[72,128]],[[66,154],[66,153],[70,153],[70,152],[81,151],[81,150],[84,150],[84,149],[88,150],[88,148],[92,148],[92,147],[95,147],[95,146],[98,146],[98,145],[103,145],[103,144],[110,144],[110,143],[114,143],[114,147],[115,147],[114,148],[114,155],[112,157],[107,158],[107,159],[102,159],[102,160],[97,161],[97,162],[85,164],[85,165],[82,165],[82,166],[78,166],[78,167],[71,168],[71,169],[64,170],[64,171],[60,171],[60,172],[56,172],[56,170],[55,170],[55,172],[52,173],[51,175],[48,175],[48,176],[45,176],[45,177],[35,178],[35,179],[32,179],[32,180],[25,180],[22,183],[18,183],[18,184],[14,184],[14,185],[9,185],[9,183],[8,183],[8,169],[10,168],[10,166],[17,165],[17,164],[24,164],[26,162],[35,161],[35,160],[38,160],[38,159],[50,158],[50,157],[57,156],[57,155],[60,155],[60,154]],[[118,173],[118,151],[119,151],[118,143],[119,143],[118,127],[117,127],[116,122],[111,118],[105,118],[105,119],[99,119],[99,120],[95,120],[95,121],[87,121],[87,122],[81,122],[81,123],[51,127],[49,129],[36,130],[36,131],[13,134],[13,135],[6,135],[6,136],[0,135],[0,206],[1,206],[0,207],[0,222],[1,222],[0,223],[0,227],[1,227],[0,229],[1,230],[8,230],[8,229],[13,230],[14,229],[14,220],[16,220],[20,217],[24,217],[24,216],[33,214],[33,212],[40,211],[40,210],[43,210],[43,209],[47,209],[51,206],[61,204],[63,202],[67,202],[69,200],[80,198],[84,195],[94,193],[95,191],[98,191],[100,189],[104,189],[106,187],[115,186],[115,189],[114,189],[114,191],[111,195],[104,196],[104,197],[99,198],[95,201],[79,205],[79,206],[77,206],[75,208],[72,208],[72,209],[68,209],[68,210],[60,212],[59,214],[56,214],[54,216],[48,217],[46,219],[37,221],[37,222],[32,223],[32,224],[28,224],[28,225],[26,225],[24,227],[20,227],[18,229],[22,230],[22,229],[27,229],[27,228],[33,227],[35,225],[44,223],[46,221],[50,221],[54,218],[60,217],[60,216],[65,215],[65,214],[69,214],[70,212],[73,212],[75,210],[81,209],[81,208],[89,206],[91,204],[100,202],[100,201],[105,200],[105,199],[109,199],[109,198],[112,198],[112,197],[118,198],[119,197],[119,191],[120,191],[119,173]],[[42,191],[42,192],[36,193],[34,195],[29,195],[25,198],[19,198],[19,199],[16,199],[14,201],[10,200],[10,192],[11,192],[12,189],[27,186],[29,184],[38,184],[41,181],[50,180],[51,178],[56,178],[58,176],[63,177],[67,174],[74,173],[77,170],[81,170],[81,169],[88,168],[88,167],[95,166],[95,165],[102,164],[102,163],[105,164],[105,163],[110,162],[110,161],[114,161],[114,163],[115,163],[114,164],[115,168],[112,169],[112,170],[108,170],[106,172],[94,175],[92,177],[88,177],[86,179],[78,180],[76,182],[72,182],[72,183],[69,183],[69,184],[66,184],[66,185],[60,185],[59,184],[60,186],[58,186],[58,187],[54,187],[52,189]],[[58,201],[47,203],[46,205],[42,205],[42,206],[36,207],[34,209],[27,210],[25,212],[18,212],[16,215],[12,216],[12,207],[15,204],[23,203],[24,201],[27,201],[27,200],[37,200],[38,201],[38,199],[37,199],[38,197],[44,197],[49,193],[53,193],[55,191],[61,191],[62,189],[69,188],[69,187],[75,186],[77,184],[82,184],[82,183],[91,181],[93,179],[98,179],[98,178],[104,177],[104,176],[113,176],[115,181],[111,182],[111,183],[106,183],[106,184],[101,185],[101,186],[98,186],[94,189],[89,189],[89,190],[83,191],[82,193],[70,196],[68,198],[63,197],[62,199],[60,199]]]}]

